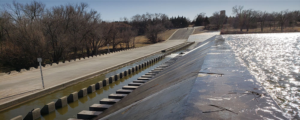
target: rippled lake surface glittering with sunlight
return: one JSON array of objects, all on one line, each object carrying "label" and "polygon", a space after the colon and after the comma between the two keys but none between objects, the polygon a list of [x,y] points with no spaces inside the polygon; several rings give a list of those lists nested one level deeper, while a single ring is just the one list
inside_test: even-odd
[{"label": "rippled lake surface glittering with sunlight", "polygon": [[300,119],[300,33],[223,35],[290,119]]}]

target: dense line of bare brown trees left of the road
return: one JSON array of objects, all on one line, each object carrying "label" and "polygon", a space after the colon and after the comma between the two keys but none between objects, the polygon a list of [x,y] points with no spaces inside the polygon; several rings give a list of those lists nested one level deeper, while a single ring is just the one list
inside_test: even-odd
[{"label": "dense line of bare brown trees left of the road", "polygon": [[100,13],[83,2],[47,8],[41,1],[13,1],[0,9],[0,67],[17,70],[37,66],[37,58],[58,63],[97,55],[107,52],[101,49],[107,44],[110,51],[130,48],[138,35],[145,35],[148,44],[157,43],[163,40],[158,34],[177,27],[178,21],[187,26],[184,20],[147,12],[130,19],[103,21]]}]

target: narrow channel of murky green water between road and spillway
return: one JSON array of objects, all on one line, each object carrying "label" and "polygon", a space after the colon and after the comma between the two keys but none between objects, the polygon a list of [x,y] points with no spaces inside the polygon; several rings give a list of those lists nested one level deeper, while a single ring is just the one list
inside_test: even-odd
[{"label": "narrow channel of murky green water between road and spillway", "polygon": [[[190,43],[190,44],[193,44],[193,43]],[[95,101],[95,99],[99,99],[99,97],[101,98],[101,97],[105,96],[106,94],[110,93],[110,91],[113,91],[113,90],[115,90],[115,88],[118,88],[120,85],[128,84],[127,82],[129,81],[129,79],[137,79],[137,78],[135,78],[137,74],[144,73],[145,70],[149,70],[149,69],[152,69],[153,67],[157,67],[156,65],[158,65],[160,62],[170,59],[169,57],[172,57],[171,53],[177,52],[177,51],[180,51],[183,49],[184,49],[184,46],[180,46],[176,50],[172,50],[169,52],[167,51],[165,53],[163,52],[163,53],[160,53],[157,55],[147,57],[143,60],[126,65],[119,69],[111,70],[108,73],[101,74],[99,76],[85,80],[84,82],[79,82],[75,85],[71,85],[71,86],[63,88],[61,90],[55,91],[51,94],[42,96],[38,99],[34,99],[31,101],[22,103],[16,107],[12,107],[10,109],[5,110],[5,112],[4,111],[0,112],[0,117],[5,118],[5,119],[11,119],[12,117],[10,117],[10,118],[6,118],[6,117],[7,116],[16,116],[16,113],[19,113],[26,118],[26,114],[28,113],[26,111],[30,111],[30,110],[32,110],[32,108],[36,108],[33,111],[40,112],[40,110],[37,110],[39,107],[39,108],[42,108],[42,110],[41,110],[42,112],[36,113],[36,114],[41,114],[42,119],[57,119],[57,118],[64,119],[64,117],[72,118],[72,116],[74,117],[74,115],[71,115],[71,114],[78,113],[79,108],[84,109],[85,107],[87,107],[86,104],[89,104],[90,102]],[[167,56],[166,53],[170,54],[170,55]],[[166,57],[166,59],[163,59],[164,57]],[[148,61],[145,63],[145,60],[148,60]],[[147,63],[149,65],[146,65]],[[128,71],[128,68],[130,68],[129,71]],[[128,71],[130,73],[133,71],[134,72],[132,74],[128,74],[128,73],[126,73],[126,71]],[[124,74],[128,74],[128,75],[123,77]],[[146,77],[149,77],[149,76],[146,76]],[[102,83],[97,82],[97,81],[99,81],[99,79],[104,79],[104,80],[108,79],[107,82],[110,84],[103,85],[104,82],[102,82],[102,80],[100,80]],[[133,81],[131,81],[131,82],[133,82]],[[99,85],[101,86],[101,84],[102,84],[102,88],[99,87]],[[130,82],[129,82],[129,84],[130,84]],[[139,83],[137,83],[137,84],[139,84]],[[65,97],[63,97],[63,96],[65,96]],[[55,102],[54,106],[55,106],[56,111],[53,110],[54,102]],[[78,106],[80,106],[80,107],[78,107]],[[33,111],[31,111],[31,112],[33,112]],[[33,115],[33,114],[31,114],[31,115]],[[20,116],[17,116],[17,118],[18,117],[20,117]],[[31,116],[31,118],[34,118],[34,117]]]}]

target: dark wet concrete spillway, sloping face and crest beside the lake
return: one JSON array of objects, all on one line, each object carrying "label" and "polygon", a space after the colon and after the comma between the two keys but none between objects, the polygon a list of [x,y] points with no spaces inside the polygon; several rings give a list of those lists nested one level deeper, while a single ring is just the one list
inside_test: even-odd
[{"label": "dark wet concrete spillway, sloping face and crest beside the lake", "polygon": [[94,119],[287,119],[221,36],[199,44]]}]

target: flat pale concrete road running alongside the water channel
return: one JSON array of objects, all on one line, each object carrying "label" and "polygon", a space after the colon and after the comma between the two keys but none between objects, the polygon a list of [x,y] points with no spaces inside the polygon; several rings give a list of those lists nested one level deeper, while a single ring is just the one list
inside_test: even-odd
[{"label": "flat pale concrete road running alongside the water channel", "polygon": [[[45,88],[161,51],[162,49],[181,44],[185,41],[186,40],[168,40],[161,44],[45,67],[43,68]],[[39,69],[1,77],[0,98],[43,88]],[[12,98],[15,98],[15,96]],[[3,99],[0,100],[0,103],[1,101],[3,102]]]}]

